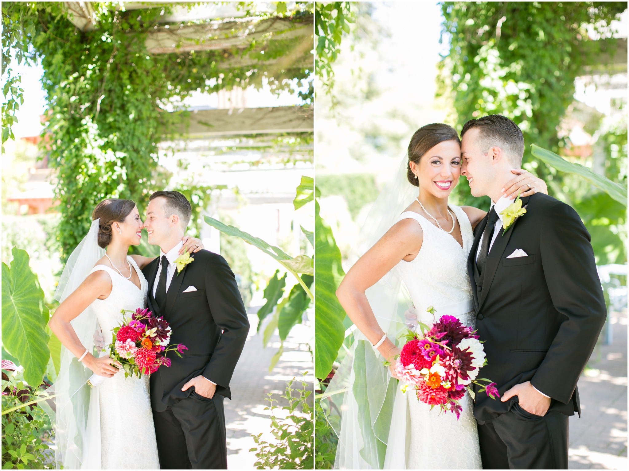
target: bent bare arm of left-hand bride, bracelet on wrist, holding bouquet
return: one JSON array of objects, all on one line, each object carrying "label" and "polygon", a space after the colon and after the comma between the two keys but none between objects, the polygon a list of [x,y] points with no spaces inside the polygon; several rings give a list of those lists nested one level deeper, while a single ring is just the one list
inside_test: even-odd
[{"label": "bent bare arm of left-hand bride, bracelet on wrist, holding bouquet", "polygon": [[[96,271],[59,305],[50,318],[48,322],[50,329],[75,357],[81,358],[86,348],[81,344],[70,321],[86,310],[96,298],[106,298],[109,293],[111,293],[109,274],[105,271]],[[96,358],[91,352],[88,352],[81,362],[97,375],[105,377],[111,377],[118,372],[112,363],[120,366],[118,362],[113,362],[108,357]]]}]

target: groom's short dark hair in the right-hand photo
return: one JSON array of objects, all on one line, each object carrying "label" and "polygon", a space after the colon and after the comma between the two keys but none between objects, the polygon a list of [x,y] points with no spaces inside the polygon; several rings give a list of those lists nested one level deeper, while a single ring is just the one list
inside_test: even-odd
[{"label": "groom's short dark hair in the right-hand photo", "polygon": [[493,147],[499,147],[503,149],[509,162],[520,168],[524,155],[524,136],[515,122],[501,114],[490,114],[479,119],[470,119],[461,130],[461,139],[463,139],[463,134],[473,127],[477,127],[479,130],[476,143],[483,154],[487,154],[489,149]]}]

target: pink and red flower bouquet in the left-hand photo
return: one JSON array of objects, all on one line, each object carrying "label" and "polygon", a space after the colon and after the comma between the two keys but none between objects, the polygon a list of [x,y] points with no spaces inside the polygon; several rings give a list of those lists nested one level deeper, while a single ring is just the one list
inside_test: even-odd
[{"label": "pink and red flower bouquet in the left-hand photo", "polygon": [[[112,331],[113,339],[109,347],[109,357],[116,359],[125,370],[125,378],[142,377],[152,374],[160,366],[170,366],[166,352],[174,351],[180,358],[186,345],[170,345],[170,325],[164,317],[154,317],[152,311],[138,308],[134,311],[121,311],[123,323]],[[126,317],[131,313],[131,319]],[[103,350],[106,352],[106,350]],[[96,374],[89,379],[94,387],[106,379]]]}]

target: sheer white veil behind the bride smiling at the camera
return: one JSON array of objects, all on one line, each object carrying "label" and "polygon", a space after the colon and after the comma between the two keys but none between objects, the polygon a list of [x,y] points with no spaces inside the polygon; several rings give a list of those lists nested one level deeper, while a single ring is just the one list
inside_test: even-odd
[{"label": "sheer white veil behind the bride smiling at the camera", "polygon": [[[399,163],[377,198],[348,257],[348,268],[396,224],[418,194],[406,178],[408,157]],[[365,291],[376,319],[389,339],[408,327],[407,310],[418,315],[397,271],[392,269]],[[338,436],[335,468],[406,468],[406,397],[389,375],[384,358],[355,326],[346,332],[346,354],[321,400]]]}]

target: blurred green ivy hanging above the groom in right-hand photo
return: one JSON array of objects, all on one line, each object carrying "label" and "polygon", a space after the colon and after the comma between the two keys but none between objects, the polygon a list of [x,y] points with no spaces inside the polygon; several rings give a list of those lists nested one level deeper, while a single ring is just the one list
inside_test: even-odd
[{"label": "blurred green ivy hanging above the groom in right-hand photo", "polygon": [[[574,79],[616,40],[589,40],[586,25],[603,31],[626,2],[443,2],[442,41],[450,51],[440,62],[440,93],[452,92],[457,129],[465,121],[503,114],[520,126],[526,144],[559,152],[557,126],[574,96]],[[533,160],[525,146],[524,162]],[[545,165],[541,178],[560,191],[561,177]],[[489,207],[457,187],[462,203]]]}]

